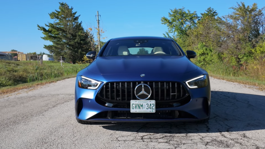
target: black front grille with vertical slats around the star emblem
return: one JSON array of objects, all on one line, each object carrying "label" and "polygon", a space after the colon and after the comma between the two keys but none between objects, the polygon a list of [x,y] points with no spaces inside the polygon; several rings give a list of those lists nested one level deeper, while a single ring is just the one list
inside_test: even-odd
[{"label": "black front grille with vertical slats around the star emblem", "polygon": [[100,89],[101,98],[112,101],[130,101],[137,99],[134,89],[138,84],[148,84],[152,90],[148,100],[169,101],[187,97],[187,91],[180,82],[108,82]]}]

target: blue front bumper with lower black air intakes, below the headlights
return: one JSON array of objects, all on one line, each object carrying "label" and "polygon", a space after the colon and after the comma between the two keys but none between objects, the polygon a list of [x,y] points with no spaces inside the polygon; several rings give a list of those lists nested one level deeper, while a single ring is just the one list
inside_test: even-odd
[{"label": "blue front bumper with lower black air intakes, below the headlights", "polygon": [[[183,84],[184,85],[184,84]],[[191,100],[183,106],[156,108],[157,113],[130,113],[130,108],[111,108],[98,104],[95,100],[98,90],[81,89],[76,86],[75,111],[76,118],[94,122],[168,122],[168,121],[198,121],[210,116],[210,84],[199,89],[188,89]],[[167,113],[167,114],[165,114]],[[173,115],[171,114],[173,113]],[[121,116],[123,114],[123,116]],[[164,115],[171,115],[170,117]],[[130,116],[128,116],[130,115]],[[138,113],[139,115],[139,113]],[[156,117],[157,118],[152,118]],[[160,116],[161,115],[161,116]]]}]

